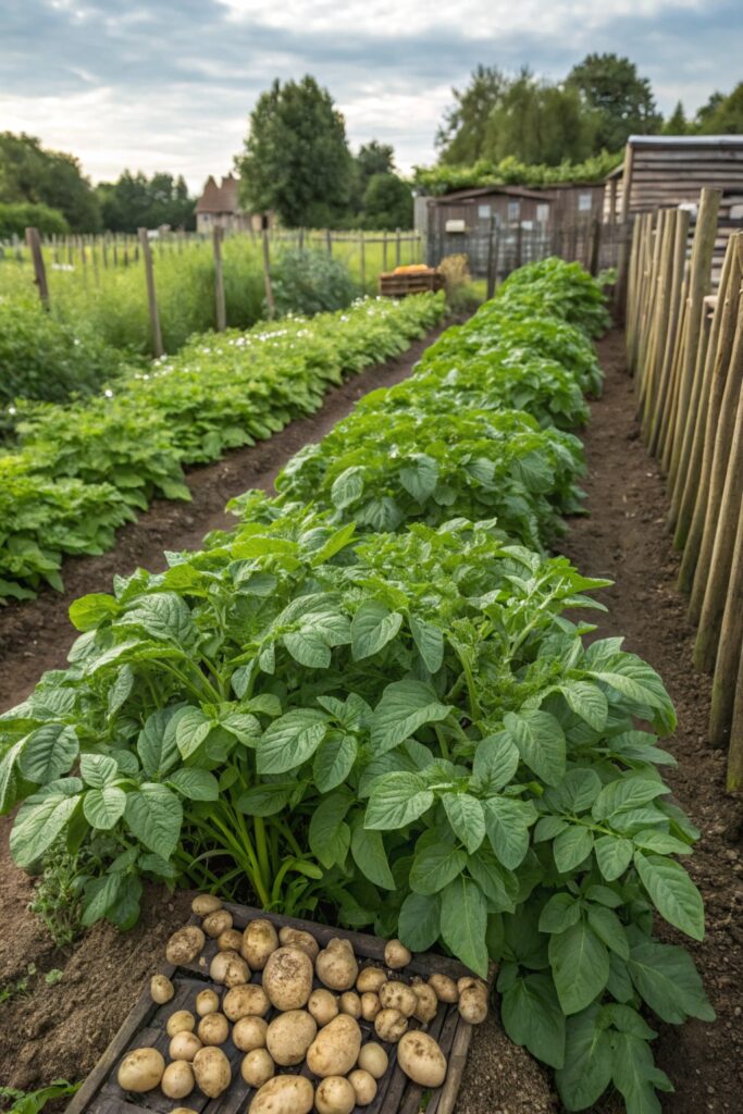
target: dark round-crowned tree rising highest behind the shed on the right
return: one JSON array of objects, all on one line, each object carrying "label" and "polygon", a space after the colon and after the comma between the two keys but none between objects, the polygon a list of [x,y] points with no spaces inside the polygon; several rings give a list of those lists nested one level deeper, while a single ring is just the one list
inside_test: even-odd
[{"label": "dark round-crowned tree rising highest behind the shed on the right", "polygon": [[649,135],[663,124],[649,80],[638,75],[628,58],[587,55],[573,67],[567,84],[578,89],[598,113],[599,148],[620,150],[630,135]]}]

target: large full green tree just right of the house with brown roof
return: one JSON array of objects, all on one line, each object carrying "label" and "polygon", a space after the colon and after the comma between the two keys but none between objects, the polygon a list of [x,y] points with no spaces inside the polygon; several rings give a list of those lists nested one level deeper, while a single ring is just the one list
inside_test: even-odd
[{"label": "large full green tree just right of the house with brown roof", "polygon": [[242,201],[254,212],[275,209],[286,225],[325,227],[348,209],[352,158],[345,123],[309,75],[285,85],[276,80],[261,94],[235,163]]}]

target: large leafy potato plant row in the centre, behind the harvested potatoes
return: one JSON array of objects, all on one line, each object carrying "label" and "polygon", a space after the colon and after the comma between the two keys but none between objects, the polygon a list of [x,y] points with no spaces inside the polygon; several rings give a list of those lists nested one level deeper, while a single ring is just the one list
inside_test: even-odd
[{"label": "large leafy potato plant row in the centre, behind the harvested potatoes", "polygon": [[[532,273],[570,286],[563,316],[531,316]],[[605,582],[548,556],[580,451],[534,387],[557,361],[598,389],[597,296],[575,265],[524,268],[431,346],[400,408],[398,388],[364,400],[277,497],[236,501],[235,530],[78,600],[69,668],[0,720],[0,807],[22,802],[21,867],[95,848],[88,924],[131,925],[143,879],[164,879],[479,976],[496,960],[506,1029],[566,1107],[612,1085],[653,1114],[671,1083],[648,1017],[714,1016],[654,935],[658,917],[704,935],[678,861],[698,832],[662,776],[661,678],[620,638],[587,641]],[[514,361],[534,416],[512,409]]]}]

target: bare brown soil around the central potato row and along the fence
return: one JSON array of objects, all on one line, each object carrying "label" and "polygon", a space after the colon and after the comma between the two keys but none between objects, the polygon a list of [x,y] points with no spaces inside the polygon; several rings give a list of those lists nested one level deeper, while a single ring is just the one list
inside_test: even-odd
[{"label": "bare brown soil around the central potato row and along the fence", "polygon": [[[0,613],[0,707],[21,700],[43,668],[63,664],[71,641],[66,608],[81,592],[106,590],[113,573],[138,564],[156,567],[162,549],[198,545],[224,522],[226,499],[246,487],[266,487],[287,456],[320,437],[364,390],[401,379],[422,345],[334,391],[314,418],[296,422],[271,442],[236,452],[189,476],[194,502],[156,504],[121,532],[106,557],[70,561],[66,597]],[[657,466],[646,456],[634,420],[633,384],[624,368],[620,334],[599,344],[604,397],[594,403],[585,442],[589,517],[570,524],[564,551],[587,575],[607,576],[609,612],[596,636],[623,634],[626,647],[663,675],[676,702],[680,726],[666,745],[678,769],[668,772],[676,799],[702,830],[691,871],[707,909],[707,936],[691,946],[717,1022],[658,1026],[655,1054],[676,1092],[661,1097],[664,1114],[740,1108],[743,1087],[743,809],[724,793],[725,758],[705,742],[710,678],[692,667],[693,631],[675,590],[678,557],[666,530],[667,496]],[[26,656],[28,655],[28,656]],[[22,978],[27,991],[0,998],[0,1085],[30,1088],[56,1077],[81,1078],[121,1024],[145,977],[156,968],[167,935],[183,922],[188,895],[151,890],[138,927],[126,936],[97,926],[67,952],[55,949],[27,911],[31,881],[10,862],[8,821],[0,823],[0,987]],[[63,976],[48,985],[45,973]],[[618,1114],[609,1096],[596,1114]],[[558,1114],[547,1073],[505,1037],[496,1018],[475,1032],[457,1114]]]}]

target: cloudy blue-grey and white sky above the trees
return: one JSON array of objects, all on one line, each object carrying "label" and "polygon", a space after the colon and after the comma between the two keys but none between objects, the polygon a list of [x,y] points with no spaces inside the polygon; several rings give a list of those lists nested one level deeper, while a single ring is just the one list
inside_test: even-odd
[{"label": "cloudy blue-grey and white sky above the trees", "polygon": [[125,167],[226,173],[274,77],[313,74],[353,145],[433,159],[451,86],[478,63],[563,77],[589,51],[637,62],[661,108],[743,79],[742,0],[0,0],[0,128]]}]

